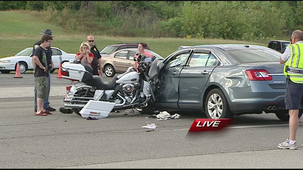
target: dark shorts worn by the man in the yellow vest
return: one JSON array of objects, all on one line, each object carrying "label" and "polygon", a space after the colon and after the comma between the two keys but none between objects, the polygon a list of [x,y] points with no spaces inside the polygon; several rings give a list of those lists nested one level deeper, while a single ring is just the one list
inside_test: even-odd
[{"label": "dark shorts worn by the man in the yellow vest", "polygon": [[298,110],[303,96],[303,84],[289,80],[286,84],[285,106],[286,110]]}]

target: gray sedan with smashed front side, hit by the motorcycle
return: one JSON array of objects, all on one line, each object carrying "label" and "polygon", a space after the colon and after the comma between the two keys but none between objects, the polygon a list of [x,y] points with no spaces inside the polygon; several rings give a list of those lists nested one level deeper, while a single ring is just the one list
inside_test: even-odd
[{"label": "gray sedan with smashed front side, hit by the motorcycle", "polygon": [[241,44],[178,50],[159,65],[154,106],[159,110],[203,111],[212,119],[265,111],[288,121],[280,56],[268,47]]}]

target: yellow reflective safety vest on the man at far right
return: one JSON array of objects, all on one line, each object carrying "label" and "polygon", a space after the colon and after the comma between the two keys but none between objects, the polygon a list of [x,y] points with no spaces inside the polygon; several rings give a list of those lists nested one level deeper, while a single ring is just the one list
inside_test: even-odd
[{"label": "yellow reflective safety vest on the man at far right", "polygon": [[290,58],[284,64],[284,74],[294,83],[303,83],[303,44],[291,44]]}]

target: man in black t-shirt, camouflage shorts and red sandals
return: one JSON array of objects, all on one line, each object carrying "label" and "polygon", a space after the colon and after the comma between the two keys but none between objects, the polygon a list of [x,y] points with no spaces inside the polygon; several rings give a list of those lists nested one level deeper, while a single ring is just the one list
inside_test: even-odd
[{"label": "man in black t-shirt, camouflage shorts and red sandals", "polygon": [[48,65],[45,54],[45,49],[52,44],[52,37],[44,35],[41,39],[41,44],[36,48],[32,57],[32,63],[34,67],[34,76],[37,88],[37,111],[35,116],[46,116],[50,113],[43,107],[43,99],[48,96]]}]

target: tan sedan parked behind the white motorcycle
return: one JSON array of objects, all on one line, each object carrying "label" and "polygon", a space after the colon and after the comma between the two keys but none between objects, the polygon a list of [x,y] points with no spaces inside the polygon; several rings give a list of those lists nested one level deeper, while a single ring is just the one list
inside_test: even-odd
[{"label": "tan sedan parked behind the white motorcycle", "polygon": [[[164,60],[159,54],[145,50],[146,52],[158,58],[158,62]],[[134,56],[137,48],[125,48],[113,52],[108,56],[101,57],[103,72],[107,77],[113,77],[116,73],[124,73],[128,67],[134,66]]]}]

